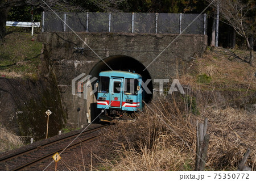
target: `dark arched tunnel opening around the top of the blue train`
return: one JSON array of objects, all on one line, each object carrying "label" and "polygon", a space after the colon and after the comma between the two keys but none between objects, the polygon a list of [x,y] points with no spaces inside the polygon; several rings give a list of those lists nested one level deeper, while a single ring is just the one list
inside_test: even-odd
[{"label": "dark arched tunnel opening around the top of the blue train", "polygon": [[[138,60],[135,60],[135,58],[124,56],[124,55],[109,56],[105,58],[104,61],[99,61],[90,71],[90,75],[98,78],[98,74],[101,71],[111,70],[110,68],[112,70],[135,71],[135,73],[142,75],[143,82],[146,82],[147,79],[151,79],[150,73],[148,72],[147,69],[144,70],[146,67],[141,62],[139,62]],[[144,102],[146,103],[150,102],[150,100],[152,99],[152,92],[153,92],[152,81],[148,83],[147,87],[151,91],[151,94],[147,94],[147,93],[145,94]]]}]

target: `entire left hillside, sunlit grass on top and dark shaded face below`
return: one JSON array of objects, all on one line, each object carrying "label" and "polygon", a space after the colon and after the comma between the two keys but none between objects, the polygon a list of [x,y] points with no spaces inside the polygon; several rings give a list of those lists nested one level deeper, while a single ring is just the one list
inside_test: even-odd
[{"label": "entire left hillside, sunlit grass on top and dark shaded face below", "polygon": [[9,33],[0,46],[0,125],[34,140],[45,137],[47,110],[54,120],[49,136],[65,123],[55,74],[42,48],[30,33],[18,32]]}]

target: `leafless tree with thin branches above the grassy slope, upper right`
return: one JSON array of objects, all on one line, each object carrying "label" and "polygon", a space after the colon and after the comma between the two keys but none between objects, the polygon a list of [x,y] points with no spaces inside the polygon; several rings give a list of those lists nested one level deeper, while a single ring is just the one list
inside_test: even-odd
[{"label": "leafless tree with thin branches above the grassy slope, upper right", "polygon": [[[212,0],[208,0],[212,2]],[[213,6],[220,7],[220,16],[245,41],[250,52],[248,63],[253,62],[253,37],[256,35],[256,6],[254,0],[216,0]]]}]

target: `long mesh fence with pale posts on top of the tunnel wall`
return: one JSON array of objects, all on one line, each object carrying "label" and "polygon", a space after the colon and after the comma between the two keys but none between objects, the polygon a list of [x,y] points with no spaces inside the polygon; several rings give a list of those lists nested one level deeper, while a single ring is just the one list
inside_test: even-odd
[{"label": "long mesh fence with pale posts on top of the tunnel wall", "polygon": [[[108,12],[43,12],[44,32],[127,32],[207,34],[206,14],[108,13]],[[196,18],[199,16],[198,18]],[[68,26],[67,26],[67,25]],[[70,27],[70,28],[69,28]],[[72,30],[71,30],[72,28]]]}]

